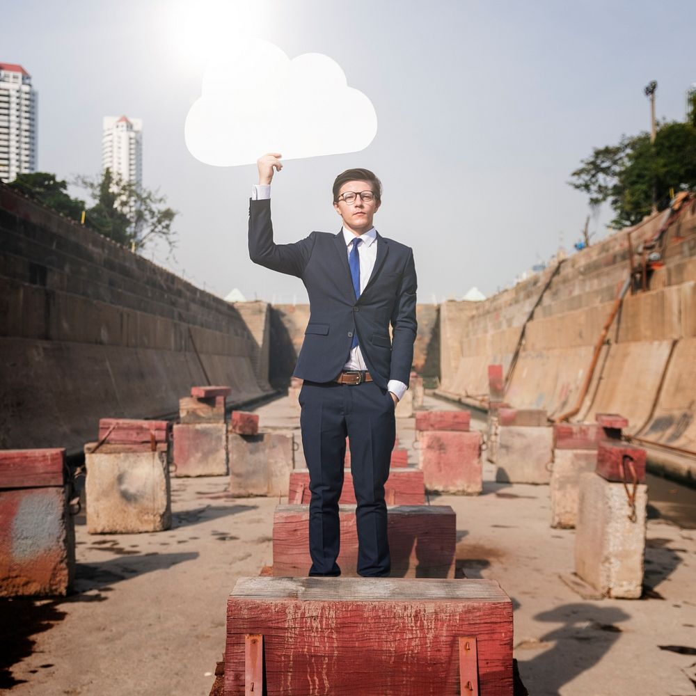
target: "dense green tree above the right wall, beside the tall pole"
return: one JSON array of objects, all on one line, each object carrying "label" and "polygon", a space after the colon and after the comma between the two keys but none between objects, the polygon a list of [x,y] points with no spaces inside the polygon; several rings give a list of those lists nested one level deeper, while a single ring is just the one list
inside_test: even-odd
[{"label": "dense green tree above the right wall, beside the tall pole", "polygon": [[591,206],[609,201],[612,226],[635,225],[651,212],[654,193],[662,210],[671,191],[696,189],[696,127],[663,123],[654,143],[645,132],[623,136],[617,145],[595,148],[581,164],[569,184],[587,193]]}]

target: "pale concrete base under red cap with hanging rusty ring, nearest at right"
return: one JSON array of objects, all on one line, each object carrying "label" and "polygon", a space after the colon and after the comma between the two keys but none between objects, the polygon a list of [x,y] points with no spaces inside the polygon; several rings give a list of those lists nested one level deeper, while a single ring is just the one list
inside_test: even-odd
[{"label": "pale concrete base under red cap with hanging rusty ring, nearest at right", "polygon": [[575,571],[604,596],[642,594],[647,497],[647,486],[639,484],[632,521],[623,484],[596,473],[580,477]]}]

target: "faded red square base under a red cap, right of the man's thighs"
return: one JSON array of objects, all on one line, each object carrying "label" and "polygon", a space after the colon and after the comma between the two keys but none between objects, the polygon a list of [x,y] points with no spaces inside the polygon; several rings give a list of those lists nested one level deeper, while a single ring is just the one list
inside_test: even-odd
[{"label": "faded red square base under a red cap, right of the man's thighs", "polygon": [[428,491],[477,495],[483,490],[481,434],[422,433],[420,468]]}]

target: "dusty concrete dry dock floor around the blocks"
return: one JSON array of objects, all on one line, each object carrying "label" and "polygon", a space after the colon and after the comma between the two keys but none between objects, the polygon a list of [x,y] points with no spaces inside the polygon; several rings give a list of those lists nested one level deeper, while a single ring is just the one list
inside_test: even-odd
[{"label": "dusty concrete dry dock floor around the blocks", "polygon": [[[264,427],[299,420],[287,399],[258,413]],[[398,429],[402,446],[411,444],[413,420]],[[415,450],[410,457],[416,461]],[[482,496],[430,502],[457,512],[464,574],[498,580],[512,597],[515,656],[530,694],[696,694],[693,491],[654,482],[664,500],[648,521],[644,599],[586,601],[559,579],[573,571],[574,531],[549,527],[548,487],[496,484],[493,473],[487,464]],[[0,600],[0,690],[207,696],[224,648],[227,596],[237,578],[271,563],[278,504],[231,498],[226,488],[225,477],[173,479],[166,532],[94,536],[78,518],[77,592]],[[679,498],[676,512],[670,496]]]}]

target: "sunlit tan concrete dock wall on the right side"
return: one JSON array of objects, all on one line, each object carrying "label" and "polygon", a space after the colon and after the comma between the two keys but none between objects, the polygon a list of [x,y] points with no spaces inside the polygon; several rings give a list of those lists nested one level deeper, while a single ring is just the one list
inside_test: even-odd
[{"label": "sunlit tan concrete dock wall on the right side", "polygon": [[665,226],[664,213],[486,301],[444,303],[440,393],[485,407],[487,365],[501,363],[510,404],[546,409],[552,418],[579,404],[571,418],[578,421],[622,413],[628,434],[683,458],[683,473],[696,477],[696,202],[675,218],[655,247],[661,259],[647,287],[629,291],[610,324],[584,397],[629,259],[640,260],[636,250]]}]

